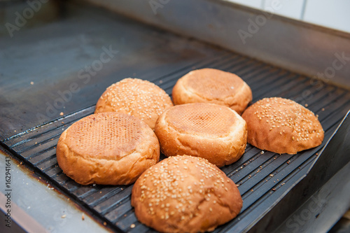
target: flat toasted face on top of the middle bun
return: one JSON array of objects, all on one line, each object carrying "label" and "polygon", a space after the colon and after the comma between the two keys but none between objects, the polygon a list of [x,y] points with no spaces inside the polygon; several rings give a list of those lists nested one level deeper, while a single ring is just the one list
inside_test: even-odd
[{"label": "flat toasted face on top of the middle bun", "polygon": [[165,120],[183,134],[204,137],[224,137],[240,118],[230,108],[217,104],[181,104],[169,108]]}]

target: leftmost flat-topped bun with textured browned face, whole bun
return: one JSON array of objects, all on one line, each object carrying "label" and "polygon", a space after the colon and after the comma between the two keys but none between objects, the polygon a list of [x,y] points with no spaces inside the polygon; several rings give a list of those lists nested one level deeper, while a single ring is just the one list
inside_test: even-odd
[{"label": "leftmost flat-topped bun with textured browned face, whole bun", "polygon": [[87,185],[127,185],[159,161],[153,130],[124,113],[97,113],[59,137],[57,162],[66,176]]}]

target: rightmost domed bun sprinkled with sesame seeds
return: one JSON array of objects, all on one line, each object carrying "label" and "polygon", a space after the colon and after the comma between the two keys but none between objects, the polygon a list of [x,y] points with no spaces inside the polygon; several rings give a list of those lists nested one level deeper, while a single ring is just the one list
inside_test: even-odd
[{"label": "rightmost domed bun sprinkled with sesame seeds", "polygon": [[248,125],[248,143],[261,150],[293,155],[323,141],[322,125],[314,113],[290,99],[261,99],[242,118]]}]

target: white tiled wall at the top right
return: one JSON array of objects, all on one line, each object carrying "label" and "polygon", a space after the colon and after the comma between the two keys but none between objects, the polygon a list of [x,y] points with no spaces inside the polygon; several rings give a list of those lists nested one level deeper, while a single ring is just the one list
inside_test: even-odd
[{"label": "white tiled wall at the top right", "polygon": [[350,0],[226,0],[264,10],[279,4],[279,15],[350,32]]}]

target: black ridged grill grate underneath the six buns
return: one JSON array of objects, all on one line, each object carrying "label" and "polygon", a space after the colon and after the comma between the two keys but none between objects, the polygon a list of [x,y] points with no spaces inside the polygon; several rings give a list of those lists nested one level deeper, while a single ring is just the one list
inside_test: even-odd
[{"label": "black ridged grill grate underneath the six buns", "polygon": [[[221,57],[206,58],[195,64],[188,64],[166,76],[157,76],[154,71],[139,78],[151,80],[171,94],[176,80],[193,69],[204,67],[237,73],[251,86],[253,102],[264,97],[277,96],[308,104],[308,108],[318,114],[325,130],[325,139],[318,148],[297,155],[278,155],[267,151],[262,153],[258,148],[248,145],[246,153],[238,162],[222,168],[225,174],[239,185],[244,205],[237,218],[218,227],[215,232],[248,230],[263,213],[278,202],[283,193],[306,174],[311,162],[349,110],[350,93],[340,87],[316,83],[310,78],[234,53],[223,53]],[[106,221],[114,230],[150,232],[152,230],[139,223],[134,216],[130,205],[132,185],[78,185],[62,174],[57,165],[55,146],[60,134],[73,122],[93,112],[94,106],[90,106],[7,139],[4,143],[38,173],[48,178],[71,199],[85,206],[99,220]],[[135,225],[134,228],[130,228],[132,224]]]}]

